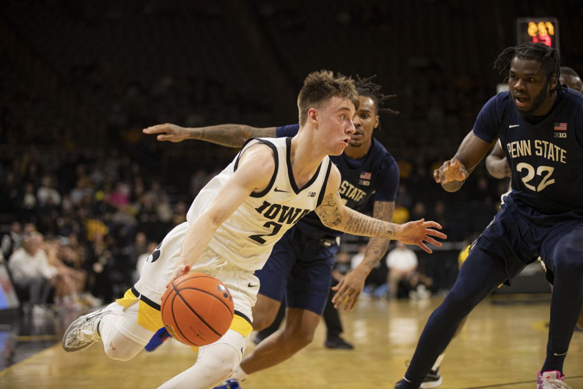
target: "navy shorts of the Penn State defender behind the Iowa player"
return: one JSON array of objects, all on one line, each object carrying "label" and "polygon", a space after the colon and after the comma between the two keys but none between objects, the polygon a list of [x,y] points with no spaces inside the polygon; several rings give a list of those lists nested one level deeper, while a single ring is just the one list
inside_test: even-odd
[{"label": "navy shorts of the Penn State defender behind the Iowa player", "polygon": [[338,244],[333,239],[316,239],[292,227],[275,244],[265,266],[255,271],[259,293],[321,315],[332,282],[332,265]]}]

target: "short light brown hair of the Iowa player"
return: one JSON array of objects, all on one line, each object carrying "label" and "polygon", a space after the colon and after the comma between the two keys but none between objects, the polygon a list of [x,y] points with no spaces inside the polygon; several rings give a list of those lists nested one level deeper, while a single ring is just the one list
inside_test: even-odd
[{"label": "short light brown hair of the Iowa player", "polygon": [[354,80],[341,74],[334,76],[334,73],[328,70],[308,74],[297,96],[300,125],[304,125],[308,120],[310,108],[321,109],[322,104],[335,96],[349,99],[354,108],[358,109],[359,94],[354,88]]}]

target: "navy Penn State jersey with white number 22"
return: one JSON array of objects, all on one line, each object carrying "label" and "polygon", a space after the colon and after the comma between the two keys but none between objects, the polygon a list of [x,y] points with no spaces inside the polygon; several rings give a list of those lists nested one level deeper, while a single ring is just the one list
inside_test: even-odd
[{"label": "navy Penn State jersey with white number 22", "polygon": [[583,211],[583,95],[559,90],[550,113],[530,124],[510,93],[499,93],[480,111],[473,133],[486,142],[500,138],[512,171],[510,196],[545,215]]}]

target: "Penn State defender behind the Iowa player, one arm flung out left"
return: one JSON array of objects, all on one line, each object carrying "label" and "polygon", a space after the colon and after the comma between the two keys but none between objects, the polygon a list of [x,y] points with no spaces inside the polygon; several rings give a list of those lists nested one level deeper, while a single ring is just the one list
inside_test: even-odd
[{"label": "Penn State defender behind the Iowa player, one arm flung out left", "polygon": [[[345,153],[331,156],[331,159],[342,175],[340,197],[346,206],[360,209],[374,198],[373,217],[391,221],[399,171],[395,159],[373,138],[373,131],[380,126],[381,112],[398,112],[380,108],[385,100],[394,96],[382,94],[381,86],[371,81],[373,77],[357,77],[360,107],[353,117],[356,132],[351,136]],[[194,129],[162,124],[144,130],[145,134],[161,134],[157,138],[160,141],[200,139],[231,147],[240,147],[247,138],[294,136],[297,131],[297,124],[277,128],[217,125]],[[220,388],[236,388],[248,374],[278,365],[310,344],[330,290],[338,236],[339,233],[322,225],[312,212],[276,244],[266,266],[255,272],[261,286],[253,308],[253,328],[262,330],[273,322],[284,295],[286,325],[246,356],[233,374],[233,379]],[[336,290],[333,299],[336,308],[346,300],[345,310],[353,309],[368,273],[381,260],[388,244],[386,239],[373,238],[368,241],[365,258],[359,267],[333,288]]]}]

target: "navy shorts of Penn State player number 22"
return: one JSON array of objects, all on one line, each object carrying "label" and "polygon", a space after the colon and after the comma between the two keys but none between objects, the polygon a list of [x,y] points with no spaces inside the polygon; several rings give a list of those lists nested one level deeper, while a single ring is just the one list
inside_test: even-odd
[{"label": "navy shorts of Penn State player number 22", "polygon": [[577,212],[543,215],[508,196],[475,244],[505,261],[508,283],[529,263],[541,257],[547,269],[554,269],[550,253],[556,244],[564,244],[567,233],[583,230],[583,218]]}]

